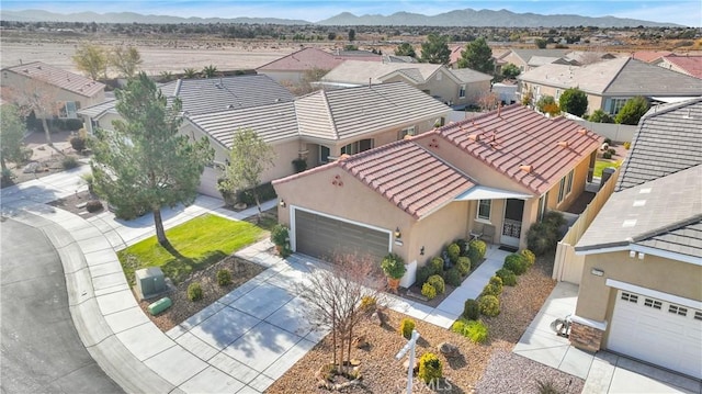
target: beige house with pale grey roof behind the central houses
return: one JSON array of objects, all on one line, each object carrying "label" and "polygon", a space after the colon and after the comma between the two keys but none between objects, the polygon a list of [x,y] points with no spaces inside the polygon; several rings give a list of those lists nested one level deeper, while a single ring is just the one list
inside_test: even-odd
[{"label": "beige house with pale grey roof behind the central houses", "polygon": [[364,63],[348,60],[321,78],[325,88],[346,88],[401,81],[446,105],[475,104],[490,91],[492,76],[469,68],[449,69],[442,65]]}]

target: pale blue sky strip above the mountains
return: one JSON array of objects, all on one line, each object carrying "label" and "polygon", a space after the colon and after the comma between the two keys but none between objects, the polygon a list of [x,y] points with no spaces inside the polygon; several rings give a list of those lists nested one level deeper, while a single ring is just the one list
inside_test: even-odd
[{"label": "pale blue sky strip above the mountains", "polygon": [[41,9],[58,13],[81,11],[122,12],[174,16],[260,16],[301,19],[317,22],[340,12],[356,15],[407,11],[434,15],[451,10],[500,10],[540,14],[578,14],[582,16],[632,18],[654,22],[671,22],[702,26],[702,1],[686,0],[522,0],[522,1],[453,1],[453,0],[326,0],[326,1],[227,1],[227,0],[0,0],[1,10]]}]

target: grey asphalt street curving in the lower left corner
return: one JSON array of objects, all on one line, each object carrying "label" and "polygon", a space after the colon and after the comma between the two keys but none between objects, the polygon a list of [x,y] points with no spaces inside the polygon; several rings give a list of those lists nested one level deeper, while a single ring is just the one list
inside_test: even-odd
[{"label": "grey asphalt street curving in the lower left corner", "polygon": [[123,393],[83,347],[58,254],[44,234],[0,223],[0,391]]}]

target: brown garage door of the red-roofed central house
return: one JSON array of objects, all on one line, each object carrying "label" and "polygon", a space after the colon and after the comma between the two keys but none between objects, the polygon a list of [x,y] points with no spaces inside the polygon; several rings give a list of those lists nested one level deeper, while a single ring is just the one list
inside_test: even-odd
[{"label": "brown garage door of the red-roofed central house", "polygon": [[339,254],[370,255],[381,261],[390,234],[354,223],[295,210],[295,251],[320,259]]}]

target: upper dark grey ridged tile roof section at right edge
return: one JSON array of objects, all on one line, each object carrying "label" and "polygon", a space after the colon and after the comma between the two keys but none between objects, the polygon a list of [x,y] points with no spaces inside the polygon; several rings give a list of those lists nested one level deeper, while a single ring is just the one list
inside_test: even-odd
[{"label": "upper dark grey ridged tile roof section at right edge", "polygon": [[702,165],[702,98],[653,108],[638,124],[616,190]]}]

